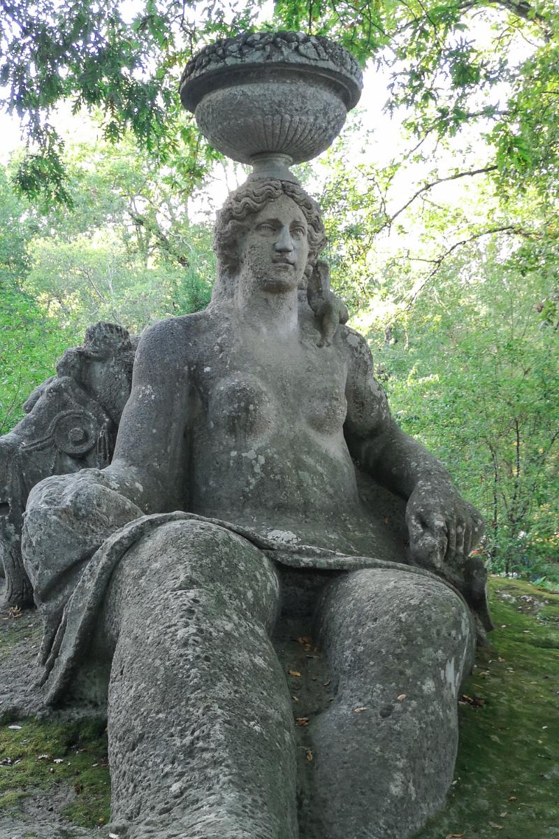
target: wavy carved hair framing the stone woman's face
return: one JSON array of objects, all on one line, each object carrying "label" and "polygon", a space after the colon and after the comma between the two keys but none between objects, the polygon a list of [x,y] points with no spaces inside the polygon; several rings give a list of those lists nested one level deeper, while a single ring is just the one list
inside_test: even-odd
[{"label": "wavy carved hair framing the stone woman's face", "polygon": [[[308,250],[306,265],[300,284],[306,287],[308,277],[322,251],[326,236],[320,210],[316,201],[298,185],[288,180],[248,180],[232,192],[221,208],[215,222],[214,248],[218,258],[218,279],[215,297],[229,297],[233,293],[236,277],[241,271],[243,251],[241,243],[257,216],[267,206],[280,199],[289,199],[296,205],[304,219]],[[293,208],[293,209],[296,209]]]}]

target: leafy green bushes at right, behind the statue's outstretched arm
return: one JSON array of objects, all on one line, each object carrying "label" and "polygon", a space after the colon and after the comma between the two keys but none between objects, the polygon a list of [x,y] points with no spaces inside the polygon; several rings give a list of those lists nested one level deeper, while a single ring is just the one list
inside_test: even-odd
[{"label": "leafy green bushes at right, behind the statue's outstretched arm", "polygon": [[533,249],[502,248],[448,264],[377,360],[401,425],[483,511],[491,566],[534,574],[559,555],[558,336],[539,311],[556,248],[531,268]]}]

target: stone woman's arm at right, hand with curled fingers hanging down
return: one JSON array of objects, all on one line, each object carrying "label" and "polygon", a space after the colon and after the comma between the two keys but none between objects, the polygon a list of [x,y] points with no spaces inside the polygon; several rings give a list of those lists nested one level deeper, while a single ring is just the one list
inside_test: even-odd
[{"label": "stone woman's arm at right, hand with curled fingers hanging down", "polygon": [[468,557],[484,532],[479,512],[453,487],[436,457],[396,425],[386,393],[373,376],[369,347],[361,336],[344,331],[348,345],[344,434],[360,468],[406,499],[411,560],[432,558],[456,567]]}]

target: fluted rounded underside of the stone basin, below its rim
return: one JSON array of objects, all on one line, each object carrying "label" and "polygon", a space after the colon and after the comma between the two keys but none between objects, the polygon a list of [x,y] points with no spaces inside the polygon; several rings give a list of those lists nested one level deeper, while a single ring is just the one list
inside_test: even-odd
[{"label": "fluted rounded underside of the stone basin, below its rim", "polygon": [[233,160],[255,154],[288,154],[293,163],[328,149],[344,125],[346,108],[328,82],[296,75],[210,91],[195,111],[200,131]]}]

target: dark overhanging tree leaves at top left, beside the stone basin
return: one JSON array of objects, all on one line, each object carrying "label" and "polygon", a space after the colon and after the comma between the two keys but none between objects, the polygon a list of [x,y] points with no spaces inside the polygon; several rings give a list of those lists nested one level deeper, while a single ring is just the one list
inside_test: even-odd
[{"label": "dark overhanging tree leaves at top left, beside the stone basin", "polygon": [[[194,187],[215,152],[181,112],[180,73],[193,49],[251,28],[259,7],[259,0],[234,12],[220,0],[205,7],[144,0],[127,22],[111,0],[45,0],[40,8],[28,0],[3,3],[0,85],[8,95],[0,105],[22,119],[29,143],[14,179],[18,189],[71,206],[63,143],[49,123],[62,101],[76,113],[100,108],[107,140],[132,133],[153,160],[172,164]],[[179,152],[179,135],[187,154]]]}]

